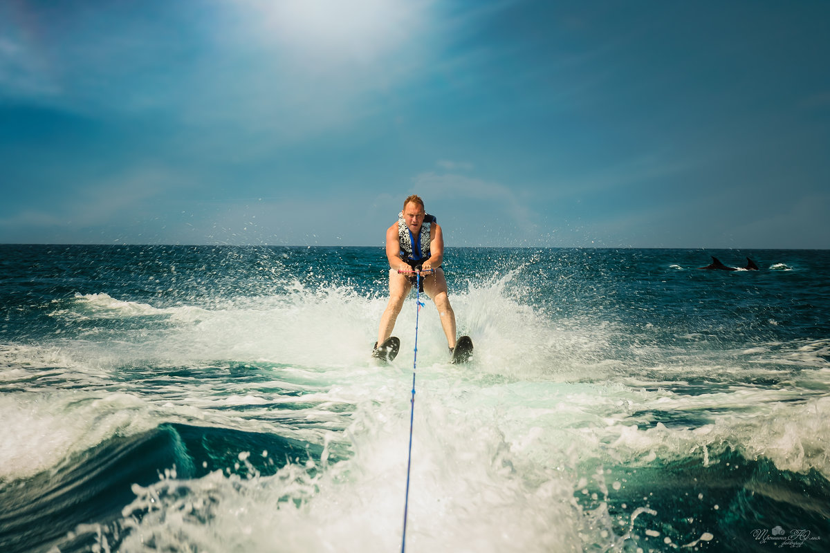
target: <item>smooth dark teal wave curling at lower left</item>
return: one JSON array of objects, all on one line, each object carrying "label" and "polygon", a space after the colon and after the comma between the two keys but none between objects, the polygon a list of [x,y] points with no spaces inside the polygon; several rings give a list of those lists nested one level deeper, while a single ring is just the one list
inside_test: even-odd
[{"label": "smooth dark teal wave curling at lower left", "polygon": [[[256,455],[247,454],[256,451]],[[291,459],[303,463],[320,448],[273,434],[163,424],[102,443],[64,458],[49,471],[0,488],[0,546],[3,551],[88,551],[100,526],[120,519],[142,487],[167,479],[198,479],[217,472],[246,478],[272,474]],[[139,492],[140,494],[140,492]]]}]

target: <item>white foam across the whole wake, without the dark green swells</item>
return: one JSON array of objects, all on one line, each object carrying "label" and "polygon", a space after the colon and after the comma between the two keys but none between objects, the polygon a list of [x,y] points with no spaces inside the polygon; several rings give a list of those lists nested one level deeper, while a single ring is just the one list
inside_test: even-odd
[{"label": "white foam across the whole wake, without the dark green swells", "polygon": [[[643,347],[635,353],[658,361],[646,366],[608,358],[609,343],[624,328],[532,308],[522,299],[528,292],[512,288],[511,278],[451,295],[460,332],[476,340],[471,365],[447,364],[431,302],[419,315],[413,551],[611,549],[615,535],[602,493],[618,481],[580,472],[597,459],[636,467],[697,458],[710,466],[731,447],[748,459],[766,457],[785,470],[815,469],[830,478],[830,399],[809,391],[830,384],[826,342],[759,344],[720,357],[715,352],[715,361],[683,362],[676,361],[682,352]],[[300,284],[284,295],[212,308],[81,297],[70,307],[79,317],[149,315],[167,324],[139,331],[116,325],[97,341],[56,338],[40,348],[8,347],[5,381],[17,386],[27,375],[52,371],[72,389],[0,395],[0,413],[9,421],[0,430],[0,476],[23,478],[115,433],[166,421],[271,432],[325,445],[315,476],[292,463],[269,477],[215,473],[135,488],[120,521],[134,531],[122,549],[140,550],[141,540],[151,538],[171,550],[397,549],[416,311],[408,298],[395,331],[399,357],[379,368],[368,357],[385,303],[344,286]],[[749,367],[736,366],[736,356],[749,359]],[[780,361],[787,359],[809,370],[789,375],[789,386],[754,383],[781,376]],[[769,360],[777,365],[766,366]],[[271,374],[235,381],[231,369],[244,376],[245,365]],[[171,367],[227,376],[155,382]],[[147,373],[151,384],[143,376],[124,378],[129,371]],[[714,381],[712,391],[676,391],[691,381]],[[89,386],[77,389],[76,382]],[[332,459],[344,458],[329,462],[331,452],[337,452]],[[589,513],[574,500],[588,492],[588,483],[600,493],[599,507]],[[105,546],[107,529],[99,530]]]}]

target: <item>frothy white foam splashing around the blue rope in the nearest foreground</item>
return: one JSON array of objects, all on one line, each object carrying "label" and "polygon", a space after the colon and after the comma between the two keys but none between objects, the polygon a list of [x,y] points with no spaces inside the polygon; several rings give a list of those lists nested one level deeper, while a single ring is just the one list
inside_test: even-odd
[{"label": "frothy white foam splashing around the blue rope in the nearest foreground", "polygon": [[[492,405],[463,400],[453,405],[447,394],[457,391],[429,379],[418,394],[408,546],[580,551],[579,509],[569,478],[546,469],[533,476],[526,467],[517,469]],[[387,389],[382,402],[360,405],[346,430],[354,455],[315,478],[294,465],[257,480],[213,475],[138,489],[123,521],[137,531],[125,546],[153,536],[157,546],[174,549],[208,540],[224,551],[261,551],[275,540],[288,551],[396,549],[403,526],[408,401],[391,395],[398,394]],[[189,493],[183,495],[183,488]],[[131,517],[133,512],[140,519]]]}]

